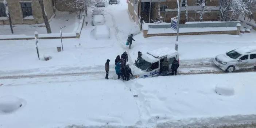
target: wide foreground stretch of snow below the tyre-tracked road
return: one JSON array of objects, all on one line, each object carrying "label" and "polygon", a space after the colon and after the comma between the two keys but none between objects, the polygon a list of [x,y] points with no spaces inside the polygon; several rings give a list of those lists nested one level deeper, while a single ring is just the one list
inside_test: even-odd
[{"label": "wide foreground stretch of snow below the tyre-tracked road", "polygon": [[[255,76],[179,75],[128,82],[105,80],[104,74],[2,79],[0,97],[18,97],[23,105],[14,112],[0,113],[0,126],[164,128],[250,123],[256,120],[256,102],[249,100],[256,97]],[[219,95],[216,86],[218,90],[228,86],[234,92]]]}]

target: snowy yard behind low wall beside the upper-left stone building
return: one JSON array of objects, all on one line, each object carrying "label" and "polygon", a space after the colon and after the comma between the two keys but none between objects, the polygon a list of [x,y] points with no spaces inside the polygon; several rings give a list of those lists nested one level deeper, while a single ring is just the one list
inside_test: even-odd
[{"label": "snowy yard behind low wall beside the upper-left stone building", "polygon": [[[55,14],[55,18],[51,18],[50,21],[52,33],[59,33],[59,30],[64,33],[75,32],[77,30],[79,19],[76,13],[56,11]],[[35,31],[38,31],[38,34],[46,34],[47,31],[44,26],[44,23],[31,25],[15,24],[13,25],[13,32],[15,35],[34,35]],[[0,26],[0,30],[0,35],[13,35],[11,34],[9,25]]]}]

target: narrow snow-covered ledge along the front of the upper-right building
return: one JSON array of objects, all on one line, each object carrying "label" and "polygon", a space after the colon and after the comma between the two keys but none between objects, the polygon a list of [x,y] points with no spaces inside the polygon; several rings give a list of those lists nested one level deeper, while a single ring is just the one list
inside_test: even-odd
[{"label": "narrow snow-covered ledge along the front of the upper-right building", "polygon": [[[186,9],[186,7],[181,7],[181,11],[185,11],[185,9]],[[198,5],[187,7],[188,11],[198,11],[198,10],[201,10],[201,9],[202,9],[201,6],[198,6]],[[220,10],[220,6],[205,6],[204,10],[205,11],[218,11],[218,10]],[[175,9],[166,8],[165,11],[166,12],[175,12],[176,11],[177,12],[178,9],[177,8],[175,8]]]}]

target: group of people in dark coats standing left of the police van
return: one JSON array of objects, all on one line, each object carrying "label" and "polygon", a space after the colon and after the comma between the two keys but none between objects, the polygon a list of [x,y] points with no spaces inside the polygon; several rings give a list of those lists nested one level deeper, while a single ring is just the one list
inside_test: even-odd
[{"label": "group of people in dark coats standing left of the police van", "polygon": [[[110,60],[107,59],[107,61],[105,63],[105,69],[106,69],[105,79],[108,79],[109,62],[110,62]],[[127,62],[128,62],[128,54],[126,51],[121,55],[121,57],[120,57],[120,55],[117,55],[117,57],[115,59],[115,65],[116,65],[115,70],[116,70],[116,74],[117,74],[117,79],[120,79],[120,77],[122,77],[122,79],[124,81],[129,81],[130,74],[133,76],[132,70],[129,67],[129,64],[126,64]]]}]

